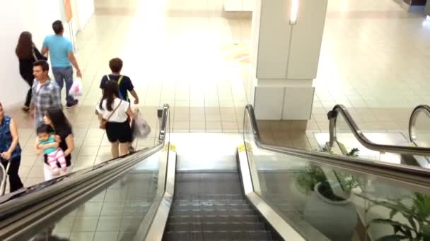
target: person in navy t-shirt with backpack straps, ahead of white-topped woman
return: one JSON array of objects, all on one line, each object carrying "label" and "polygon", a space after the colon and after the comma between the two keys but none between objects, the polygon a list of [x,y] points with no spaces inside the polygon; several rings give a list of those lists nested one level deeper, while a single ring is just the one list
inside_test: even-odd
[{"label": "person in navy t-shirt with backpack straps, ahead of white-topped woman", "polygon": [[109,68],[112,70],[112,73],[110,75],[104,75],[101,82],[100,82],[100,89],[105,88],[105,85],[109,81],[115,81],[118,84],[118,89],[120,90],[120,99],[123,99],[124,101],[129,101],[129,95],[132,94],[134,98],[134,104],[139,104],[139,97],[137,96],[136,92],[134,91],[134,86],[132,83],[132,80],[126,75],[121,75],[122,70],[122,60],[121,58],[112,58],[109,61]]}]

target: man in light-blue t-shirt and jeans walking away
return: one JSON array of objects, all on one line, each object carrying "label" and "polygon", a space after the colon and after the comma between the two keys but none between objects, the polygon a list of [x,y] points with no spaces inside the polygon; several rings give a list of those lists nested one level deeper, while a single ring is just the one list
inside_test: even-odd
[{"label": "man in light-blue t-shirt and jeans walking away", "polygon": [[72,108],[78,104],[78,100],[69,96],[69,90],[73,85],[73,68],[76,68],[76,76],[82,78],[81,69],[73,54],[73,47],[69,39],[63,37],[64,27],[60,20],[52,23],[52,30],[55,35],[45,37],[42,44],[42,54],[50,52],[52,73],[61,89],[66,82],[66,108]]}]

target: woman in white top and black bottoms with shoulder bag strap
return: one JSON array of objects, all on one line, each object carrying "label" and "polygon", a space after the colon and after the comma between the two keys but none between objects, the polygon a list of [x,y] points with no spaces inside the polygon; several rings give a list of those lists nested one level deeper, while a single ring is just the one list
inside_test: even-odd
[{"label": "woman in white top and black bottoms with shoulder bag strap", "polygon": [[100,128],[106,130],[109,142],[112,144],[112,157],[129,154],[132,142],[132,129],[127,122],[128,116],[134,118],[134,113],[127,101],[119,98],[116,82],[108,82],[100,103],[95,107],[100,119]]}]

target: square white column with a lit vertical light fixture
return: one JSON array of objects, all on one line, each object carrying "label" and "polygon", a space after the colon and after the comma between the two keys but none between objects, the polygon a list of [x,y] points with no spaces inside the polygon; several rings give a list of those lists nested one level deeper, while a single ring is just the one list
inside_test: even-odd
[{"label": "square white column with a lit vertical light fixture", "polygon": [[258,119],[310,118],[326,9],[327,0],[256,1],[248,89]]}]

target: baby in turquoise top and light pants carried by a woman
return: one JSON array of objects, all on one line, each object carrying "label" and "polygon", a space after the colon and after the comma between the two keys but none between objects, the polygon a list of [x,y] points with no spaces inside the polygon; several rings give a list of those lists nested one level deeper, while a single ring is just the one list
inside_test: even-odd
[{"label": "baby in turquoise top and light pants carried by a woman", "polygon": [[[49,125],[42,124],[37,130],[37,137],[40,144],[52,144],[55,143],[54,135],[52,134],[52,128]],[[39,145],[35,147],[35,151],[37,154],[40,154]],[[66,159],[64,157],[64,152],[59,147],[48,147],[43,150],[43,152],[47,155],[48,164],[50,164],[52,172],[54,175],[59,175],[59,170],[57,166],[57,161],[59,162],[62,170],[67,171]]]}]

